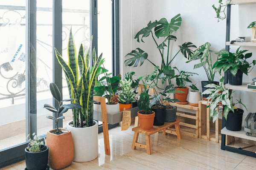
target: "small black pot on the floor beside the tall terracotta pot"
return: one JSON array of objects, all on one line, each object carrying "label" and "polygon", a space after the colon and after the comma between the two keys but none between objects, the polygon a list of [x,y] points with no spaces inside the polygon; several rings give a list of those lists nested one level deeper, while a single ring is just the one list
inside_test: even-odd
[{"label": "small black pot on the floor beside the tall terracotta pot", "polygon": [[29,152],[26,147],[25,159],[27,170],[46,170],[48,164],[48,146],[41,144],[41,152]]}]

